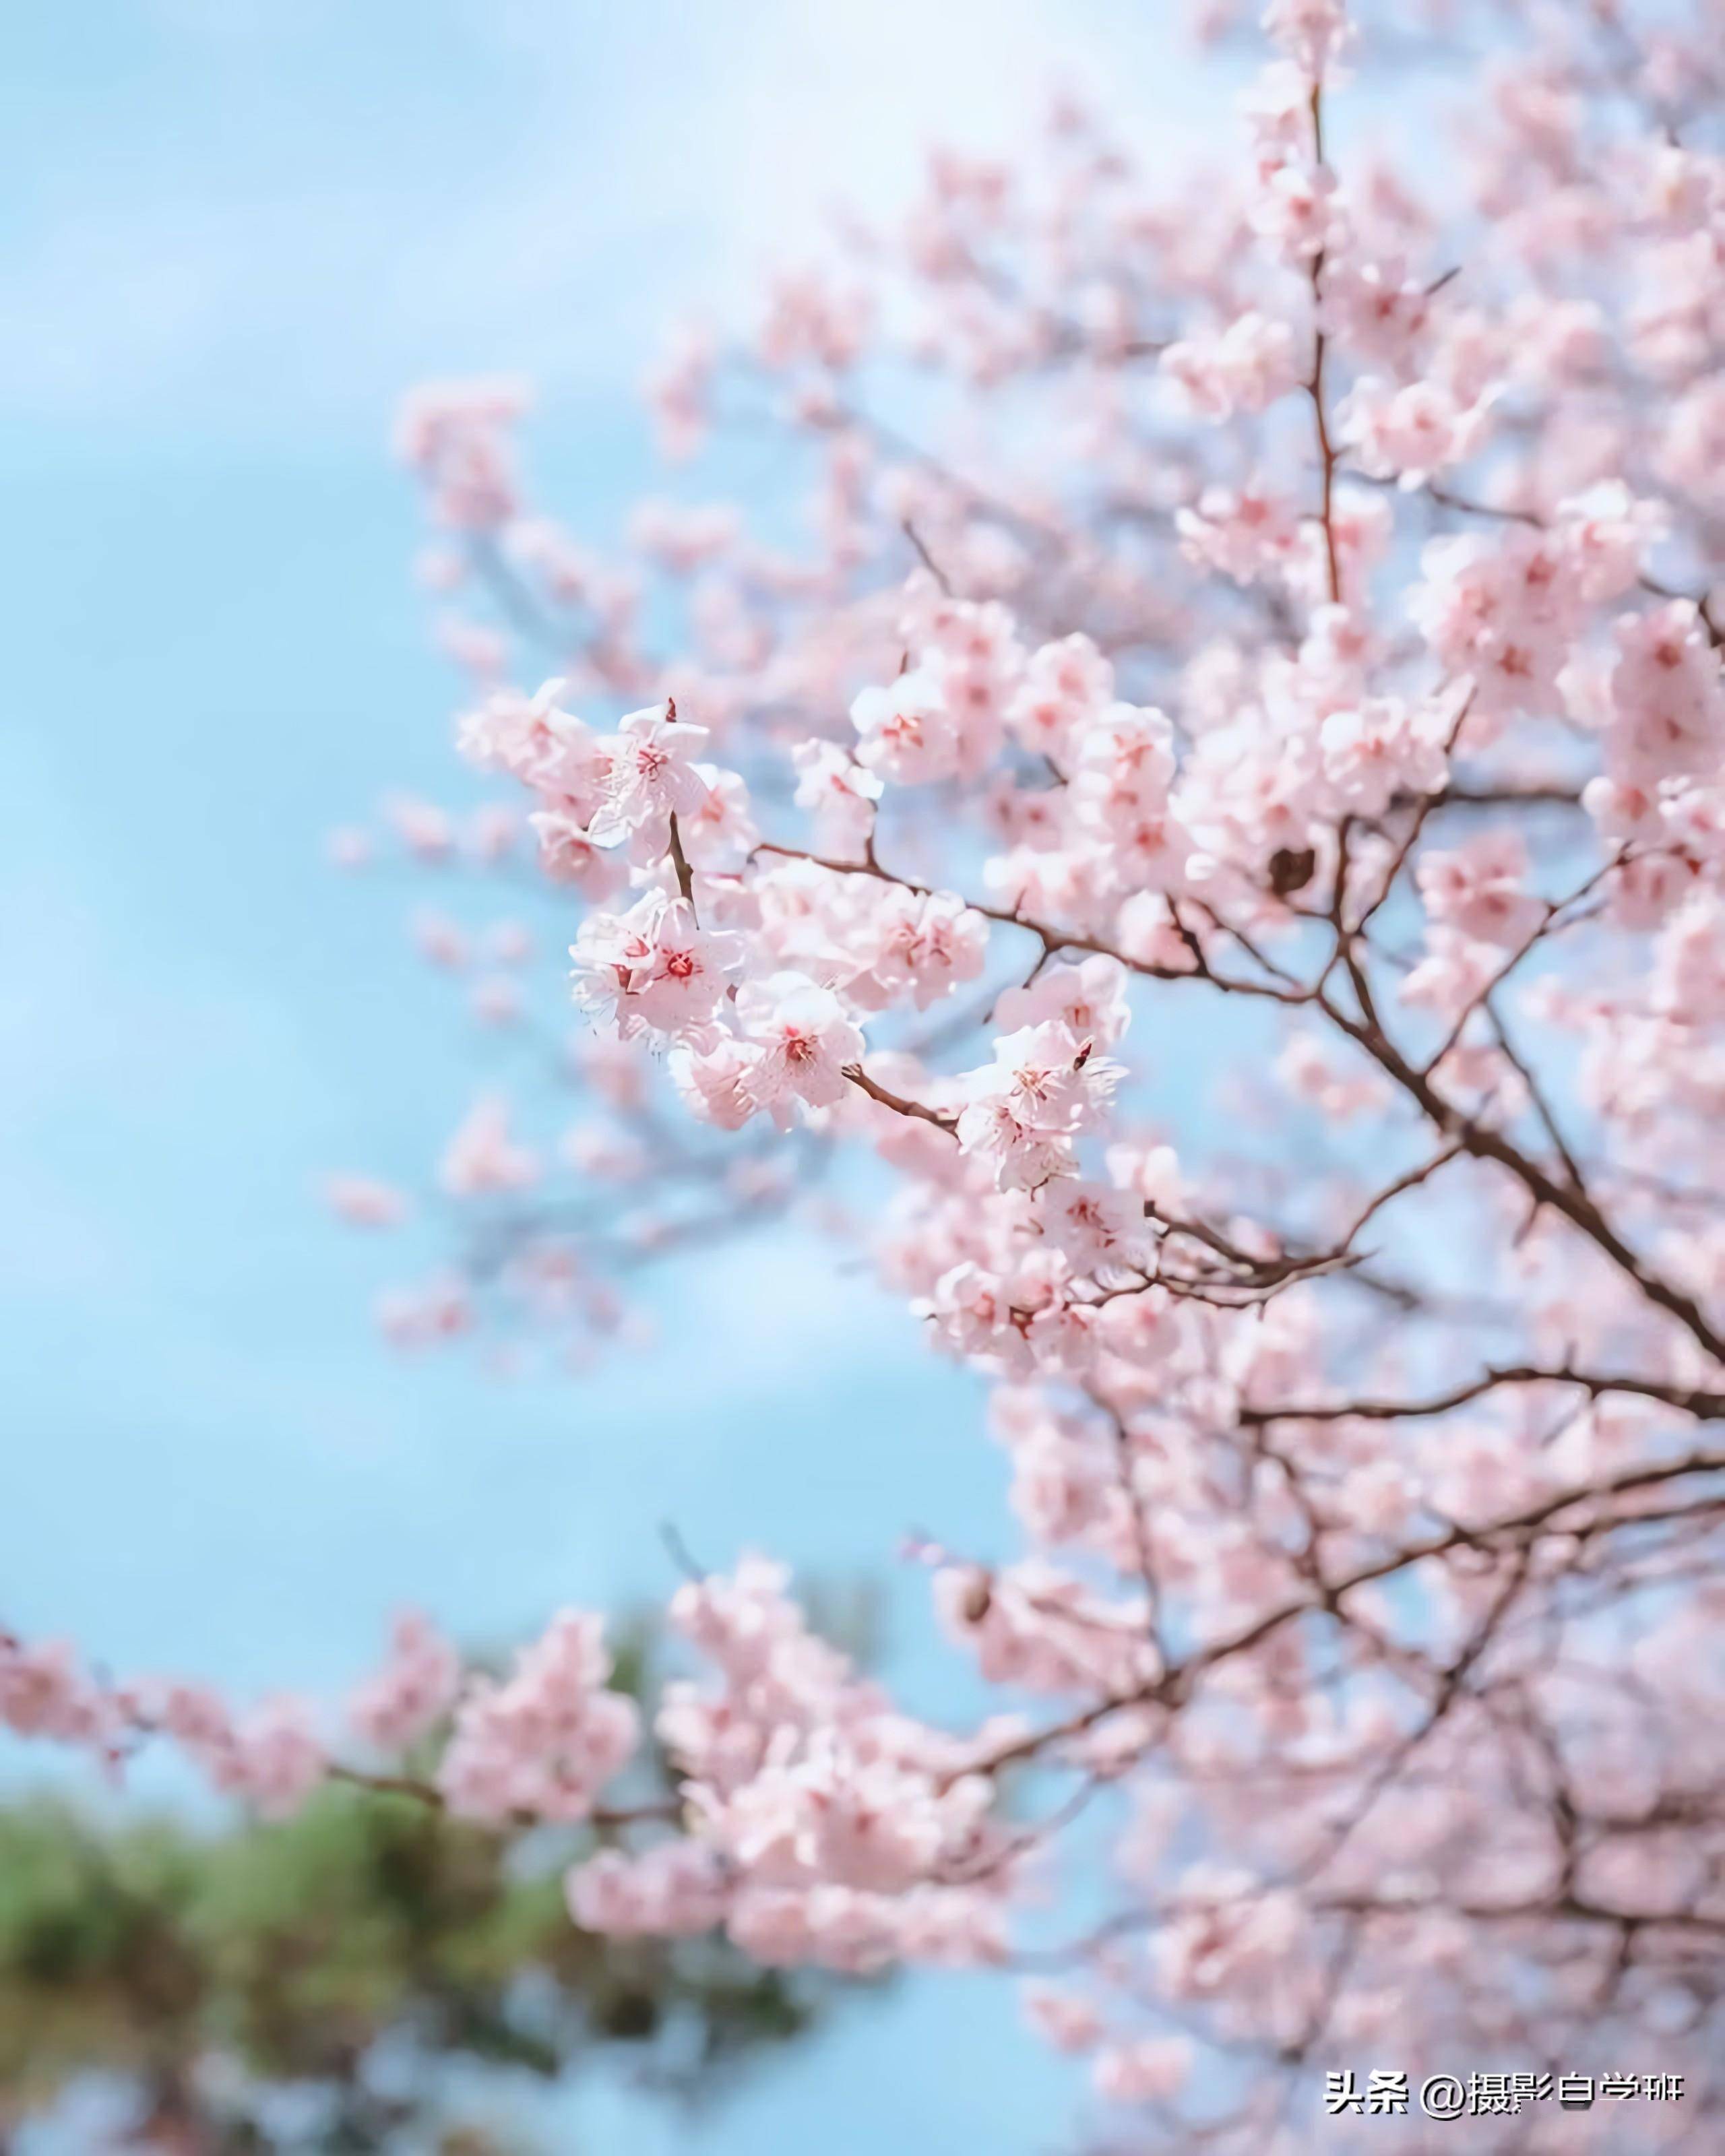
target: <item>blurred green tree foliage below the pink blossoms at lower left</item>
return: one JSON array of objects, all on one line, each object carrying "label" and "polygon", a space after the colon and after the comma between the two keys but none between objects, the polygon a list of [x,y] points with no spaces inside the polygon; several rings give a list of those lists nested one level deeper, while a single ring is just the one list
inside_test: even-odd
[{"label": "blurred green tree foliage below the pink blossoms at lower left", "polygon": [[[720,1940],[578,1932],[567,1854],[341,1783],[220,1835],[0,1811],[0,2117],[93,2070],[129,2076],[147,2111],[196,2109],[194,2070],[224,2059],[237,2085],[328,2091],[321,2147],[375,2150],[425,2124],[362,2087],[384,2037],[539,2076],[623,2048],[688,2091],[806,2027],[813,1988]],[[235,2106],[179,2145],[267,2145]]]}]

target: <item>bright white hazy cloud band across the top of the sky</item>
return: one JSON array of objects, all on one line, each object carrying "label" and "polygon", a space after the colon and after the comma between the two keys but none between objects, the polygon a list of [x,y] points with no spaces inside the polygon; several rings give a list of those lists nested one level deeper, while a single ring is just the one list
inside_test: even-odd
[{"label": "bright white hazy cloud band across the top of the sky", "polygon": [[[375,423],[427,369],[608,388],[662,326],[888,213],[932,138],[1011,147],[1100,88],[1158,136],[1179,0],[444,0],[285,13],[157,0],[112,153],[52,127],[6,270],[9,403],[80,423]],[[181,114],[203,84],[203,108]],[[65,84],[54,84],[65,88]],[[112,91],[110,91],[112,97]],[[183,123],[183,125],[181,125]]]}]

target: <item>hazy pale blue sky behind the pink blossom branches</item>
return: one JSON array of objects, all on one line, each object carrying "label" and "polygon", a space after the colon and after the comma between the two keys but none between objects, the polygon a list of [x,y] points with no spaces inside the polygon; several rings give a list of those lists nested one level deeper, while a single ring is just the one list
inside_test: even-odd
[{"label": "hazy pale blue sky behind the pink blossom branches", "polygon": [[[785,1242],[677,1268],[571,1386],[395,1363],[326,1166],[412,1177],[474,1061],[330,824],[451,772],[399,390],[541,384],[554,507],[649,479],[632,384],[828,201],[1009,149],[1070,80],[1203,125],[1169,0],[82,0],[0,82],[0,1615],[125,1669],[334,1688],[388,1611],[507,1636],[705,1561],[1005,1539],[977,1388]],[[1212,101],[1210,116],[1223,112]],[[908,1639],[923,1697],[944,1664]],[[4,1755],[13,1774],[19,1753]],[[34,1770],[34,1768],[30,1768]],[[770,2070],[712,2156],[1059,2147],[1005,1984],[936,1979]],[[578,2100],[578,2143],[679,2128]],[[584,2122],[584,2124],[582,2124]]]}]

